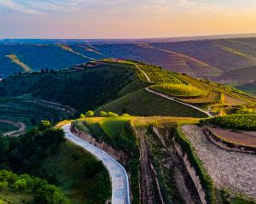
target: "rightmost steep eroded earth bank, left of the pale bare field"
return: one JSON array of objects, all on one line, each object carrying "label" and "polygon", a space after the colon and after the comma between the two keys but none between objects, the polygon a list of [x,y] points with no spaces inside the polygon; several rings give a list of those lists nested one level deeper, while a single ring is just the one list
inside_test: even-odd
[{"label": "rightmost steep eroded earth bank, left of the pale bare field", "polygon": [[179,144],[173,138],[173,129],[152,127],[155,138],[159,140],[165,150],[166,163],[164,167],[172,171],[172,180],[182,197],[188,204],[207,204],[206,194],[202,188],[200,178],[195,173],[195,168],[189,162]]}]

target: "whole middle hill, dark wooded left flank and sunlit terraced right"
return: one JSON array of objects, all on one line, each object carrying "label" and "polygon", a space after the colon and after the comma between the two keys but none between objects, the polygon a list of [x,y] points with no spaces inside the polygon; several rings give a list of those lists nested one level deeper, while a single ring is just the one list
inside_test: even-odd
[{"label": "whole middle hill, dark wooded left flank and sunlit terraced right", "polygon": [[218,83],[122,59],[11,76],[0,82],[0,95],[1,118],[28,126],[87,110],[96,110],[98,116],[100,111],[113,111],[136,116],[207,117],[206,111],[218,115],[237,111],[237,105],[245,105],[242,110],[248,105],[255,109],[256,103],[255,98]]}]

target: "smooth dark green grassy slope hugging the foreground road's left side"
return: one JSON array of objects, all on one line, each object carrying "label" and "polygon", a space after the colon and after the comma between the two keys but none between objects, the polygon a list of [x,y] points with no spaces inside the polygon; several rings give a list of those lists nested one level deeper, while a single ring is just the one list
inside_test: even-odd
[{"label": "smooth dark green grassy slope hugging the foreground road's left side", "polygon": [[[99,170],[94,170],[96,166]],[[55,156],[44,161],[42,169],[55,178],[72,203],[102,204],[111,197],[107,169],[90,153],[70,142],[61,144]],[[91,171],[97,171],[96,176],[91,176]]]}]

